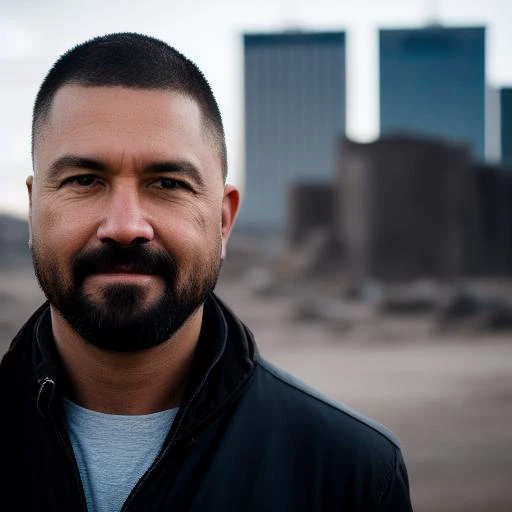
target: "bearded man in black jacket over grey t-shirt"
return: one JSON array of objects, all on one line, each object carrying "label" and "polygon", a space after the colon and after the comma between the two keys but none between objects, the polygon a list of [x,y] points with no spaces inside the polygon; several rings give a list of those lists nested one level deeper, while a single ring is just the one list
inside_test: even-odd
[{"label": "bearded man in black jacket over grey t-shirt", "polygon": [[239,204],[201,72],[155,39],[45,78],[27,179],[48,303],[0,371],[4,503],[409,511],[398,441],[265,362],[213,289]]}]

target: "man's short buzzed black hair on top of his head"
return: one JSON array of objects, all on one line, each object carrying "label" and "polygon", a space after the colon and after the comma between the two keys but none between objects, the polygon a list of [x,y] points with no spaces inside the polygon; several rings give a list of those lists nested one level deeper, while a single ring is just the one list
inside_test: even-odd
[{"label": "man's short buzzed black hair on top of his head", "polygon": [[213,92],[199,68],[172,46],[146,35],[119,33],[96,37],[62,55],[37,93],[32,115],[32,154],[55,94],[64,85],[164,89],[194,99],[218,146],[227,175],[224,127]]}]

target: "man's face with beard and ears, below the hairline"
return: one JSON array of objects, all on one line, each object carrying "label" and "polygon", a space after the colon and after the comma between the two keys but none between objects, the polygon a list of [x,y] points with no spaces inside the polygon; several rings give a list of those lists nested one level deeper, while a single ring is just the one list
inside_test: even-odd
[{"label": "man's face with beard and ears, below the hairline", "polygon": [[159,344],[215,286],[238,192],[189,97],[62,87],[27,186],[36,275],[88,342]]}]

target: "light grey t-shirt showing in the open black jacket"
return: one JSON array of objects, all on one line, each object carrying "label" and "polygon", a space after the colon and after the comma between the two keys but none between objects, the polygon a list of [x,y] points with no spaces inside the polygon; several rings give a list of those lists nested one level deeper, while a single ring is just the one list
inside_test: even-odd
[{"label": "light grey t-shirt showing in the open black jacket", "polygon": [[64,409],[87,509],[121,510],[158,455],[178,409],[124,416],[84,409],[67,399]]}]

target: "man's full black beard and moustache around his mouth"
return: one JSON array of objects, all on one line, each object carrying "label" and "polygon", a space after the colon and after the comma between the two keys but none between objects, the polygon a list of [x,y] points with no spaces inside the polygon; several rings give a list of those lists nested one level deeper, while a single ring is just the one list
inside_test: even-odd
[{"label": "man's full black beard and moustache around his mouth", "polygon": [[[37,251],[32,250],[39,285],[50,303],[84,340],[115,352],[144,350],[168,340],[215,288],[220,269],[217,256],[211,265],[196,268],[180,289],[178,266],[170,254],[151,251],[144,244],[127,247],[110,242],[74,258],[72,283],[66,287],[55,265],[43,268]],[[143,306],[145,291],[135,284],[106,285],[100,300],[84,292],[88,276],[115,272],[122,265],[160,277],[164,282],[162,296]]]}]

